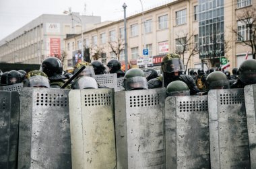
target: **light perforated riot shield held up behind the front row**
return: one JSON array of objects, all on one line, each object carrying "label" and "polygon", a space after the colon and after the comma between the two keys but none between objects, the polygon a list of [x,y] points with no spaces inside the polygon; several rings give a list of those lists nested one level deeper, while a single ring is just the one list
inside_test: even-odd
[{"label": "light perforated riot shield held up behind the front row", "polygon": [[106,86],[117,90],[117,73],[95,75],[95,79],[100,86]]}]

